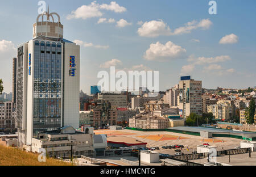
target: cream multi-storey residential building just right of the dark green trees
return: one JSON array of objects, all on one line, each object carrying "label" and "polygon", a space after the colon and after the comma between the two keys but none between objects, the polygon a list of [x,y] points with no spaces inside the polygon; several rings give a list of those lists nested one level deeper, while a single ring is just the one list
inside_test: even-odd
[{"label": "cream multi-storey residential building just right of the dark green trees", "polygon": [[214,119],[229,121],[233,119],[233,107],[225,104],[212,104],[207,106],[207,112],[212,112]]}]

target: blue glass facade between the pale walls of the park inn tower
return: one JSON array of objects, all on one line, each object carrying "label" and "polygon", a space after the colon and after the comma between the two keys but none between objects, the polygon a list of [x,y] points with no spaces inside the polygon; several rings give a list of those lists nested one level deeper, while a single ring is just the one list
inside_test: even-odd
[{"label": "blue glass facade between the pale walls of the park inn tower", "polygon": [[34,43],[34,136],[61,126],[61,43]]}]

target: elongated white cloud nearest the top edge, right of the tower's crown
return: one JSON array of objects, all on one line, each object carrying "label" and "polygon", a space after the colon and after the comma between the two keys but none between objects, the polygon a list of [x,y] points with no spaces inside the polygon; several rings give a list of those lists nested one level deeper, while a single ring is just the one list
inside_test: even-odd
[{"label": "elongated white cloud nearest the top edge, right of the tower's crown", "polygon": [[110,2],[109,5],[107,4],[98,4],[96,1],[90,3],[90,5],[82,5],[77,10],[74,10],[67,16],[67,19],[88,19],[93,17],[102,16],[103,13],[101,10],[109,10],[114,11],[116,13],[125,12],[125,7],[119,6],[116,2]]}]

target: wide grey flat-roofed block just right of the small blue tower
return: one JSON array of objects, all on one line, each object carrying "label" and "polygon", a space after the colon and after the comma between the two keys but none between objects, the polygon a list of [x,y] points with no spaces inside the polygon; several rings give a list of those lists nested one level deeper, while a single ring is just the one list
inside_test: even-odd
[{"label": "wide grey flat-roofed block just right of the small blue tower", "polygon": [[127,96],[114,93],[98,93],[98,100],[108,100],[112,108],[127,107]]}]

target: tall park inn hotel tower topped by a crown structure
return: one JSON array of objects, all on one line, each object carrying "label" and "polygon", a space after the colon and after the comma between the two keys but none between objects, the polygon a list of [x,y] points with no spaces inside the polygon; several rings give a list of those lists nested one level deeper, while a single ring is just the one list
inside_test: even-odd
[{"label": "tall park inn hotel tower topped by a crown structure", "polygon": [[48,9],[33,24],[33,39],[18,46],[18,146],[42,132],[79,128],[79,80],[80,46],[63,39],[60,16]]}]

